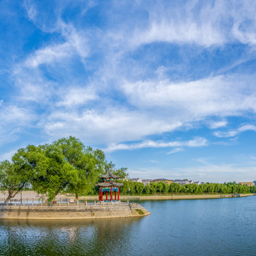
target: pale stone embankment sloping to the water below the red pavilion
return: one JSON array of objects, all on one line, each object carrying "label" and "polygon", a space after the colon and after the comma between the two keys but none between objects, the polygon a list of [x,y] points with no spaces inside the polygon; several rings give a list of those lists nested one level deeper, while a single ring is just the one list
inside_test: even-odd
[{"label": "pale stone embankment sloping to the water below the red pavilion", "polygon": [[139,203],[96,204],[92,206],[0,206],[0,219],[79,220],[127,218],[149,215]]}]

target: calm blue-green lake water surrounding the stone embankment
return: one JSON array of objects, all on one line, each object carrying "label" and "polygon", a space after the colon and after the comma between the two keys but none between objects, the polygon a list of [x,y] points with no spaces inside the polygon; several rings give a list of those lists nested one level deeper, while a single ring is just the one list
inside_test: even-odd
[{"label": "calm blue-green lake water surrounding the stone embankment", "polygon": [[256,255],[256,196],[142,205],[151,215],[0,220],[0,255]]}]

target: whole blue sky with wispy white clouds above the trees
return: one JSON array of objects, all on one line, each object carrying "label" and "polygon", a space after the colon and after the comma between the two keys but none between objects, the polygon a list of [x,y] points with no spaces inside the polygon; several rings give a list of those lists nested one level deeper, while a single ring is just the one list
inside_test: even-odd
[{"label": "whole blue sky with wispy white clouds above the trees", "polygon": [[131,178],[256,180],[255,1],[0,2],[0,160],[70,135]]}]

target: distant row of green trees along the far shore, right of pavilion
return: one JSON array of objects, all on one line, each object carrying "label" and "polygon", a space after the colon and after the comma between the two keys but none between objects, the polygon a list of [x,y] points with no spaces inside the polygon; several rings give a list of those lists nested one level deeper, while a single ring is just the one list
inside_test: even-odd
[{"label": "distant row of green trees along the far shore, right of pavilion", "polygon": [[[129,191],[130,189],[130,191]],[[180,185],[178,183],[171,183],[170,185],[159,182],[149,183],[144,185],[143,183],[124,181],[124,186],[120,189],[123,194],[130,193],[131,195],[149,195],[149,194],[203,194],[203,193],[256,193],[256,186],[240,185],[235,182],[229,183],[204,183],[197,185],[194,183]]]}]

